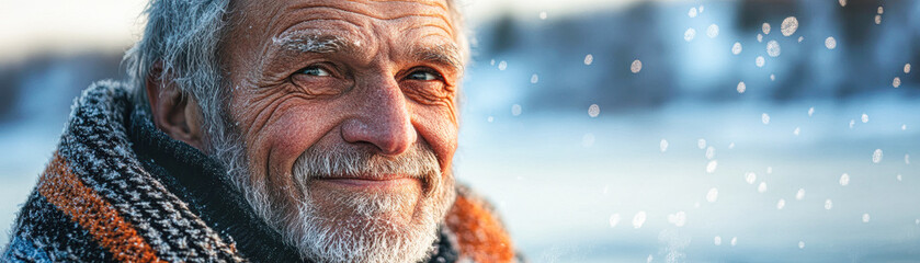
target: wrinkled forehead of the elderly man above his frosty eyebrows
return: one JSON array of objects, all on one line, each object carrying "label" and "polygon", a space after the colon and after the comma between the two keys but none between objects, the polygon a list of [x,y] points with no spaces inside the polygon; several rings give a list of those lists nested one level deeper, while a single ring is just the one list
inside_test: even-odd
[{"label": "wrinkled forehead of the elderly man above his frosty eyebrows", "polygon": [[[337,36],[359,44],[373,38],[457,43],[446,0],[241,0],[235,27],[261,39]],[[402,43],[405,44],[405,43]]]}]

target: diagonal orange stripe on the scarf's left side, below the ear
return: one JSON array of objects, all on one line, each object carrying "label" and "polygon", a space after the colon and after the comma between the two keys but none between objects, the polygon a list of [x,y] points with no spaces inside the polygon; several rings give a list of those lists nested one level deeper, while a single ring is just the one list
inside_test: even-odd
[{"label": "diagonal orange stripe on the scarf's left side, below the ear", "polygon": [[38,193],[93,236],[117,261],[164,262],[118,211],[70,172],[55,153],[42,173]]}]

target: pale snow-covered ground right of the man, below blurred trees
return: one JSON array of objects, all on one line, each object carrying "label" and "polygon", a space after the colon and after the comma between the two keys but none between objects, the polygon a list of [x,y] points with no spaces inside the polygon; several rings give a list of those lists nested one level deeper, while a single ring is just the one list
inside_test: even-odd
[{"label": "pale snow-covered ground right of the man, below blurred trees", "polygon": [[598,117],[468,111],[456,165],[535,262],[916,260],[918,112],[891,92]]}]

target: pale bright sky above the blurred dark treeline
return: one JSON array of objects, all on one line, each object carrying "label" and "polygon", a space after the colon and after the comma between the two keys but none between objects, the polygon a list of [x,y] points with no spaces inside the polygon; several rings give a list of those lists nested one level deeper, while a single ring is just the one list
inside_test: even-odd
[{"label": "pale bright sky above the blurred dark treeline", "polygon": [[[512,10],[522,19],[622,8],[638,0],[458,0],[469,24]],[[0,0],[0,61],[39,52],[126,49],[139,38],[147,0]]]}]

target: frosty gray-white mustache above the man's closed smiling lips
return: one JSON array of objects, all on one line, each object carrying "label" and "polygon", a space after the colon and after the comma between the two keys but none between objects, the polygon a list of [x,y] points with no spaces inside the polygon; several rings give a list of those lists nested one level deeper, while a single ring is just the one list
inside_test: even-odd
[{"label": "frosty gray-white mustache above the man's closed smiling lips", "polygon": [[424,183],[440,179],[441,168],[431,146],[418,141],[399,156],[384,156],[373,147],[338,145],[311,146],[294,162],[294,178],[306,186],[310,179],[396,176],[420,179]]}]

